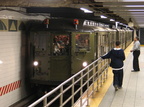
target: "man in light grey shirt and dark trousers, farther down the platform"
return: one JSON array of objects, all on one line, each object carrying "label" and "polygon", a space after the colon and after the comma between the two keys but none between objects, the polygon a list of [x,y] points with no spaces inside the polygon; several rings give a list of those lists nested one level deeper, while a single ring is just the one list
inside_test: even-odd
[{"label": "man in light grey shirt and dark trousers, farther down the platform", "polygon": [[139,68],[139,55],[140,55],[139,37],[134,38],[134,45],[133,45],[133,49],[131,50],[131,52],[133,52],[133,70],[132,70],[132,72],[140,71],[140,68]]}]

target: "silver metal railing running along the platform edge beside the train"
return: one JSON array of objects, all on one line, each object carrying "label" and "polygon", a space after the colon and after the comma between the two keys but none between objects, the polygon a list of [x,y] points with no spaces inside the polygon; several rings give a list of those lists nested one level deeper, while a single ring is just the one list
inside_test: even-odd
[{"label": "silver metal railing running along the platform edge beside the train", "polygon": [[[101,58],[98,58],[28,107],[35,107],[41,102],[43,102],[43,107],[49,107],[57,99],[59,99],[60,102],[59,107],[64,107],[64,105],[70,101],[71,107],[74,107],[76,104],[78,104],[79,107],[82,107],[85,103],[89,105],[89,98],[93,97],[95,92],[99,90],[108,77],[108,63],[108,60],[102,60]],[[69,82],[71,82],[71,84],[65,88],[64,86]],[[80,86],[77,90],[75,90],[76,84],[79,84]],[[87,87],[86,90],[83,90],[84,87]],[[70,89],[71,95],[64,101],[64,94]],[[55,98],[49,100],[49,97],[55,92],[58,93],[58,95]],[[75,95],[77,93],[80,94],[79,100],[75,99]],[[84,94],[87,96],[86,100],[83,100],[82,96]],[[77,100],[77,102],[75,102],[75,100]]]}]

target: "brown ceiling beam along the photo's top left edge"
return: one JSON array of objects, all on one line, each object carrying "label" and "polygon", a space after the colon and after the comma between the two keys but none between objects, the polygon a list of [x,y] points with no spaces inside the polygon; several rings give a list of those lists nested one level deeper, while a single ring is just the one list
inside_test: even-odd
[{"label": "brown ceiling beam along the photo's top left edge", "polygon": [[72,3],[72,0],[0,0],[1,7],[64,7]]}]

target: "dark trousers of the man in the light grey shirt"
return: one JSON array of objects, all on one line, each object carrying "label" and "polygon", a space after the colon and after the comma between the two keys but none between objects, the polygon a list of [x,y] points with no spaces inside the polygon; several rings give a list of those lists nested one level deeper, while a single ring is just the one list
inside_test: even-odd
[{"label": "dark trousers of the man in the light grey shirt", "polygon": [[133,69],[134,71],[139,71],[139,55],[140,51],[134,51],[133,52]]}]

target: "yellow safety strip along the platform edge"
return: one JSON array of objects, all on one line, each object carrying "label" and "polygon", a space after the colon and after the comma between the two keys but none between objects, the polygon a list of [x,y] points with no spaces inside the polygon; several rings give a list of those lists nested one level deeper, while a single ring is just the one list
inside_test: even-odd
[{"label": "yellow safety strip along the platform edge", "polygon": [[[128,54],[130,53],[130,50],[132,49],[133,43],[131,43],[126,49],[125,49],[125,56],[127,57]],[[99,104],[101,103],[102,99],[104,98],[106,92],[108,91],[110,85],[112,84],[113,81],[113,73],[112,69],[109,67],[108,68],[108,79],[106,82],[103,84],[102,88],[100,88],[100,91],[96,93],[95,98],[90,99],[90,106],[89,107],[98,107]]]}]

